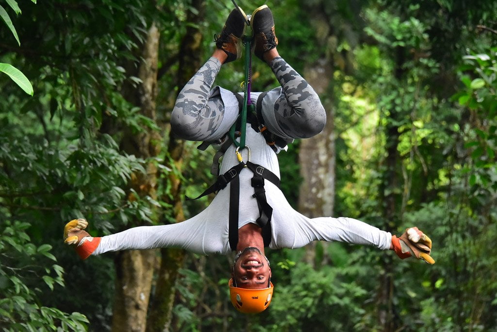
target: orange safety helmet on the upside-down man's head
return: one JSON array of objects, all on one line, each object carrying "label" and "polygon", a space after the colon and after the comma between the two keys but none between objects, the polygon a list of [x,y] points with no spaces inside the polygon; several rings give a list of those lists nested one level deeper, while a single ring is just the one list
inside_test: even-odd
[{"label": "orange safety helmet on the upside-down man's head", "polygon": [[230,298],[233,306],[244,314],[258,314],[269,307],[273,297],[273,283],[263,289],[248,289],[233,286],[233,278],[228,282]]}]

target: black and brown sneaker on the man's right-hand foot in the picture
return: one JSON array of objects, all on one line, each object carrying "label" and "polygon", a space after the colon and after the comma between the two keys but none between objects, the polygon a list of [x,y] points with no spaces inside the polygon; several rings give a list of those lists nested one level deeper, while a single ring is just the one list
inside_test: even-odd
[{"label": "black and brown sneaker on the man's right-hand foot in the picture", "polygon": [[274,34],[274,19],[271,9],[267,5],[261,5],[255,9],[250,18],[254,37],[253,53],[264,61],[262,55],[278,45],[278,38]]}]

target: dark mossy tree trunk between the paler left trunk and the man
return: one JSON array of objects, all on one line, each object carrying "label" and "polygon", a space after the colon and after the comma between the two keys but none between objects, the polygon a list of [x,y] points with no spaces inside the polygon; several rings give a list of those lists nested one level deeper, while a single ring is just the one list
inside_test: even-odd
[{"label": "dark mossy tree trunk between the paler left trunk and the man", "polygon": [[[198,28],[204,17],[205,1],[193,0],[191,6],[197,11],[188,11],[187,22],[189,24],[183,37],[179,51],[179,67],[177,72],[177,86],[182,88],[195,74],[201,65],[203,50],[202,31]],[[184,141],[169,134],[168,153],[174,163],[174,168],[181,171],[183,162]],[[172,172],[168,178],[170,185],[169,198],[165,200],[174,208],[177,222],[183,221],[183,207],[180,197],[181,179]],[[181,249],[161,249],[161,268],[157,278],[157,287],[152,301],[147,332],[166,332],[170,330],[172,307],[174,304],[175,284],[178,270],[183,265],[185,252]]]}]

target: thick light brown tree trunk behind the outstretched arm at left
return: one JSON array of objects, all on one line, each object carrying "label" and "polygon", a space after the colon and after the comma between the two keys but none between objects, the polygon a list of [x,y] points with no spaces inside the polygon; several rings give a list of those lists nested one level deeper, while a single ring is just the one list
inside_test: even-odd
[{"label": "thick light brown tree trunk behind the outstretched arm at left", "polygon": [[[156,120],[157,62],[159,50],[159,30],[152,24],[147,40],[143,44],[143,61],[138,66],[138,76],[142,80],[139,89],[130,85],[123,88],[123,94],[134,105],[139,105],[141,113]],[[121,149],[138,158],[157,156],[160,152],[161,136],[148,129],[140,133],[125,130]],[[145,165],[146,174],[134,173],[130,181],[140,197],[157,199],[157,168],[153,163]],[[132,195],[130,200],[136,199]],[[153,207],[151,207],[152,210]],[[152,216],[157,219],[157,216]],[[142,224],[133,221],[132,225]],[[157,250],[128,250],[119,252],[116,264],[116,293],[114,297],[112,331],[145,331],[150,290],[154,274]]]}]

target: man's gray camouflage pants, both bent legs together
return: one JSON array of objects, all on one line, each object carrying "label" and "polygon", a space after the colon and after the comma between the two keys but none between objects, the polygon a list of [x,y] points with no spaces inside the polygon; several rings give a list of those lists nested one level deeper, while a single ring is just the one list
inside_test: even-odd
[{"label": "man's gray camouflage pants, both bent legs together", "polygon": [[[270,67],[281,87],[268,91],[262,100],[264,124],[285,138],[307,138],[323,130],[326,111],[314,89],[285,60],[278,57]],[[171,126],[180,138],[215,141],[236,121],[239,106],[233,93],[212,84],[221,62],[211,57],[178,95]],[[251,94],[255,99],[260,93]]]}]

